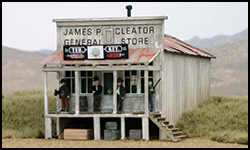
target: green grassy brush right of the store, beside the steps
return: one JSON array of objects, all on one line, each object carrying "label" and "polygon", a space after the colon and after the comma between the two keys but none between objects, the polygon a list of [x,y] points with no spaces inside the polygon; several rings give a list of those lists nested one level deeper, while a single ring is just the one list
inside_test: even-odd
[{"label": "green grassy brush right of the store, beside the steps", "polygon": [[198,108],[186,111],[177,125],[190,137],[248,143],[248,98],[211,96]]}]

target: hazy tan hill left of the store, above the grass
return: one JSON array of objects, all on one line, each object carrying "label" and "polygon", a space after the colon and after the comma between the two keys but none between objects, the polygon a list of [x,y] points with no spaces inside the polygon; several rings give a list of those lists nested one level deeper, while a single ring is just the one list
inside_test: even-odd
[{"label": "hazy tan hill left of the store, above the grass", "polygon": [[[23,89],[44,89],[40,62],[49,54],[2,46],[2,93]],[[49,73],[49,90],[56,86],[55,73]]]}]

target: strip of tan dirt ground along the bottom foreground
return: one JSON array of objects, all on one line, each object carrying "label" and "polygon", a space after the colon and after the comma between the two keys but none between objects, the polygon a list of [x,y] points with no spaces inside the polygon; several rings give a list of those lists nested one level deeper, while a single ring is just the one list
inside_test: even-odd
[{"label": "strip of tan dirt ground along the bottom foreground", "polygon": [[171,141],[94,141],[37,138],[3,138],[2,148],[248,148],[248,145],[220,143],[208,138],[187,138],[180,142]]}]

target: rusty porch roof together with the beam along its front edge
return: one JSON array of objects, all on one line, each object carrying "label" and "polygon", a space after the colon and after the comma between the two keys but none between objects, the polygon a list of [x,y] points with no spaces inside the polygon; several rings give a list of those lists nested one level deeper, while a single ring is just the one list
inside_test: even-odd
[{"label": "rusty porch roof together with the beam along its front edge", "polygon": [[[54,70],[63,70],[69,66],[74,69],[84,67],[85,69],[97,70],[96,66],[102,67],[99,68],[106,69],[115,69],[122,70],[123,67],[129,69],[133,68],[145,68],[148,67],[148,64],[151,63],[160,53],[159,48],[137,48],[137,49],[129,49],[129,57],[128,59],[102,59],[102,60],[64,60],[64,54],[62,50],[57,50],[48,56],[45,60],[41,62],[42,70],[51,70],[50,68],[54,68]],[[107,67],[105,67],[107,66]],[[112,68],[112,66],[116,66]],[[106,68],[106,69],[105,69]],[[159,67],[155,68],[160,70]]]}]

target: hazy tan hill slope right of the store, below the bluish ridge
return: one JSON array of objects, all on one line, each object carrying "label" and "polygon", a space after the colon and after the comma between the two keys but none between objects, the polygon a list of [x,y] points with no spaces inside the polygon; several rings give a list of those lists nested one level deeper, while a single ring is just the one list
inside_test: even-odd
[{"label": "hazy tan hill slope right of the store, below the bluish ridge", "polygon": [[248,39],[226,42],[203,49],[212,59],[211,93],[248,95]]}]

